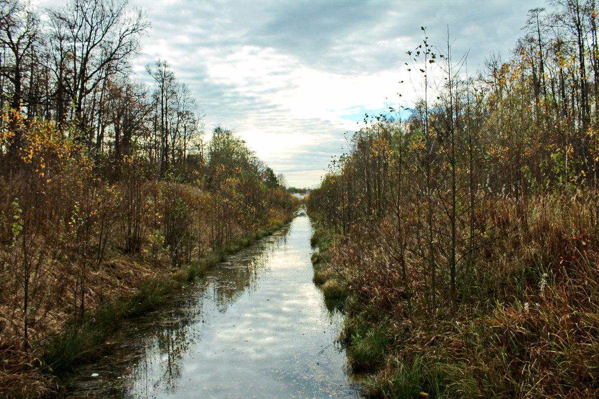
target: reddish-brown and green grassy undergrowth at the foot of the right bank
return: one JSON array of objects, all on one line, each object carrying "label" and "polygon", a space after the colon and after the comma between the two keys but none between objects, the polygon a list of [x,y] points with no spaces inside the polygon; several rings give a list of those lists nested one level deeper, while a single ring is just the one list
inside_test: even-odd
[{"label": "reddish-brown and green grassy undergrowth at the foot of the right bank", "polygon": [[389,284],[364,263],[382,257],[365,240],[338,239],[314,257],[315,280],[334,270],[324,284],[350,293],[340,339],[352,370],[368,373],[369,397],[599,397],[596,203],[545,197],[524,217],[506,209],[515,230],[485,248],[456,311],[443,297],[431,306],[417,284],[410,297]]}]

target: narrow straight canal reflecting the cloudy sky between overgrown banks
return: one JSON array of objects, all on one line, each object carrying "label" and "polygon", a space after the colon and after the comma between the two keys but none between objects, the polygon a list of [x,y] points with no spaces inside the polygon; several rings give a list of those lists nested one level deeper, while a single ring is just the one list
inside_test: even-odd
[{"label": "narrow straight canal reflecting the cloudy sky between overgrown banks", "polygon": [[[296,217],[120,333],[69,398],[358,398]],[[168,308],[168,309],[167,309]]]}]

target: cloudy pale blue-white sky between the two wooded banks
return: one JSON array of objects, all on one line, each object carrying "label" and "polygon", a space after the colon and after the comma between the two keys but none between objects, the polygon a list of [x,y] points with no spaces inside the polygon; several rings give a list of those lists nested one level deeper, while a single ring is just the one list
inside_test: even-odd
[{"label": "cloudy pale blue-white sky between the two wooded banks", "polygon": [[[56,8],[59,0],[39,0]],[[287,185],[316,186],[349,148],[364,114],[410,106],[419,77],[406,51],[428,42],[510,60],[531,8],[543,0],[130,0],[152,23],[134,78],[167,60],[205,115],[207,134],[232,129]],[[457,56],[457,57],[456,57]],[[404,81],[400,83],[400,81]],[[401,94],[401,97],[400,97]],[[363,124],[362,124],[363,125]]]}]

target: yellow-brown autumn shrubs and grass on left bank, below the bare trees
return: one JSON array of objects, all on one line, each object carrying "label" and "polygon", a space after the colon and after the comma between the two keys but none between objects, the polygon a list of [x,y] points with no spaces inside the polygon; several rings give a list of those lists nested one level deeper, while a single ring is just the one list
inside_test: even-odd
[{"label": "yellow-brown autumn shrubs and grass on left bank, below the bare trees", "polygon": [[[54,123],[7,115],[1,134],[0,386],[15,396],[56,388],[40,348],[67,319],[285,220],[294,207],[283,189],[266,187],[262,163],[244,146],[236,151],[245,165],[229,165],[228,151],[187,177],[171,169],[160,178],[132,154],[114,180]],[[226,139],[238,140],[230,131]]]}]

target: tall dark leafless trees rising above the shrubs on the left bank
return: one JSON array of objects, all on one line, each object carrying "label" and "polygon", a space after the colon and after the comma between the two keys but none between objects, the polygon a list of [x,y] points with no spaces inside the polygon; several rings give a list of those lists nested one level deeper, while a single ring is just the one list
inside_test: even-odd
[{"label": "tall dark leafless trees rising above the shrubs on the left bank", "polygon": [[[54,121],[116,176],[134,152],[161,175],[171,165],[201,162],[203,121],[169,63],[146,67],[153,88],[129,76],[149,28],[143,11],[128,10],[126,1],[73,0],[40,19],[31,4],[2,0],[0,108],[26,121]],[[13,130],[8,152],[21,144],[22,133]]]}]

